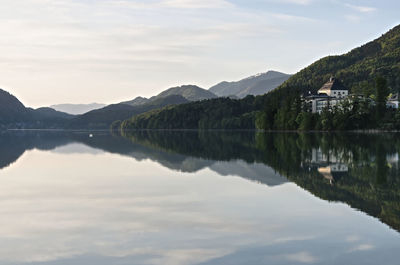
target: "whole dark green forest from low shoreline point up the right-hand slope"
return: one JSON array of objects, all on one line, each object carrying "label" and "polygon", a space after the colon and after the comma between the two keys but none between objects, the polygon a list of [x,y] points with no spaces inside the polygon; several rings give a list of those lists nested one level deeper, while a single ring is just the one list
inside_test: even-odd
[{"label": "whole dark green forest from low shoreline point up the right-hand slope", "polygon": [[[335,76],[354,95],[336,109],[311,114],[302,95]],[[382,108],[400,91],[400,25],[340,56],[328,56],[301,70],[277,89],[242,100],[212,99],[132,117],[128,129],[352,130],[400,128],[398,111]]]}]

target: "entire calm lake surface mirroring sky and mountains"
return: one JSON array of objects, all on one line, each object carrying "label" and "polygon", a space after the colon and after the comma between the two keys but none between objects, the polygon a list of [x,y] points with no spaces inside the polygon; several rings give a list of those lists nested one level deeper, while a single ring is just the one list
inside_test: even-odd
[{"label": "entire calm lake surface mirroring sky and mountains", "polygon": [[399,264],[399,134],[0,132],[0,264]]}]

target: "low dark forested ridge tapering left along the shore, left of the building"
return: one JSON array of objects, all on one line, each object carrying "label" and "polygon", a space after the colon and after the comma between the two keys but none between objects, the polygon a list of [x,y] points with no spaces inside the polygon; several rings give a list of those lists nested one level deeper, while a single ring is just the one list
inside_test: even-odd
[{"label": "low dark forested ridge tapering left along the shore, left of the building", "polygon": [[254,129],[263,97],[242,100],[217,98],[169,106],[136,115],[122,122],[123,130],[145,129]]}]

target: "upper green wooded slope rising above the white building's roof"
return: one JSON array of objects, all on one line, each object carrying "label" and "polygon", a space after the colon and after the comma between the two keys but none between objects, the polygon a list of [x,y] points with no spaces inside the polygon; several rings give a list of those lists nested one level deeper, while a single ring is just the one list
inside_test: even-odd
[{"label": "upper green wooded slope rising above the white building's roof", "polygon": [[342,80],[353,93],[373,89],[377,76],[386,78],[393,92],[400,92],[400,25],[346,54],[316,61],[280,88],[316,92],[332,75]]}]

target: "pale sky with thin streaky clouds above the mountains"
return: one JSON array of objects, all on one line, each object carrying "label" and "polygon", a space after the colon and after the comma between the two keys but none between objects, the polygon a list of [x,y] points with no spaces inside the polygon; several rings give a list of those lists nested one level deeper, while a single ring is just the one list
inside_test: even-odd
[{"label": "pale sky with thin streaky clouds above the mountains", "polygon": [[399,10],[398,0],[0,0],[0,87],[40,107],[296,73],[379,37]]}]

